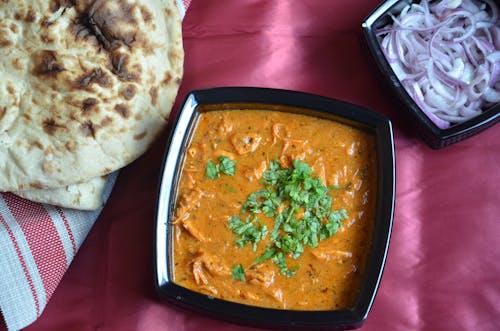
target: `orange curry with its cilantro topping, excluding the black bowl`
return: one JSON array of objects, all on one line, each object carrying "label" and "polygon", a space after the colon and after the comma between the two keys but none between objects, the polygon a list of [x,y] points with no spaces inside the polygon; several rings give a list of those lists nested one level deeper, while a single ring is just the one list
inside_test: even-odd
[{"label": "orange curry with its cilantro topping, excluding the black bowl", "polygon": [[268,308],[351,308],[374,228],[374,144],[308,115],[201,113],[173,218],[175,283]]}]

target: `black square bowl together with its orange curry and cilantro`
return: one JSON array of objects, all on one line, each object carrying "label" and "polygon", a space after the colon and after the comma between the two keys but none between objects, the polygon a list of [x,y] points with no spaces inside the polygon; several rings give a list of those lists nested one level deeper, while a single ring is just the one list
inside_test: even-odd
[{"label": "black square bowl together with its orange curry and cilantro", "polygon": [[[349,323],[360,322],[392,222],[390,127],[390,144],[381,146],[381,127],[357,123],[359,114],[271,102],[286,91],[229,90],[247,93],[203,103],[195,97],[214,91],[196,92],[171,128],[158,204],[160,293],[254,325],[289,325],[275,318],[283,312],[296,313],[292,324],[300,325],[308,311],[347,312],[342,323],[357,312]],[[250,98],[256,91],[272,98]],[[381,176],[384,163],[389,176]]]}]

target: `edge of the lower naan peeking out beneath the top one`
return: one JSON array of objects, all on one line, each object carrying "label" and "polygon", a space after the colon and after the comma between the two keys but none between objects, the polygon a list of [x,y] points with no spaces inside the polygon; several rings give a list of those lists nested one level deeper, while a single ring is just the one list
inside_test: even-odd
[{"label": "edge of the lower naan peeking out beneath the top one", "polygon": [[64,208],[95,210],[103,205],[106,182],[107,176],[103,176],[60,188],[16,191],[13,193],[35,202],[48,203]]}]

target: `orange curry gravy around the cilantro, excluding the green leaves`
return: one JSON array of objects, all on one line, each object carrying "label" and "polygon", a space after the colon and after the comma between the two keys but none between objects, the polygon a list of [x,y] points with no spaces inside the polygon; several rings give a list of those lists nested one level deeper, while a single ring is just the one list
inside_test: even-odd
[{"label": "orange curry gravy around the cilantro, excluding the green leaves", "polygon": [[[373,231],[376,154],[373,136],[335,121],[264,110],[202,113],[188,148],[174,219],[174,281],[217,298],[292,310],[348,309],[359,293]],[[234,176],[209,179],[208,161],[225,156],[236,161]],[[228,227],[259,182],[268,161],[291,167],[300,158],[331,189],[332,209],[348,218],[332,237],[302,255],[287,257],[298,265],[287,277],[270,260],[254,265],[269,235],[238,247]],[[273,219],[260,217],[273,229]],[[241,264],[245,281],[232,277]]]}]

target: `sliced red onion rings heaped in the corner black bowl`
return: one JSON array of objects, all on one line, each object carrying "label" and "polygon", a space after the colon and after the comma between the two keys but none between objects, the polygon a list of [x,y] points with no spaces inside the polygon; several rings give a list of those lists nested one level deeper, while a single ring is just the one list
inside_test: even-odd
[{"label": "sliced red onion rings heaped in the corner black bowl", "polygon": [[421,0],[381,28],[396,76],[440,128],[500,102],[500,23],[493,0]]}]

